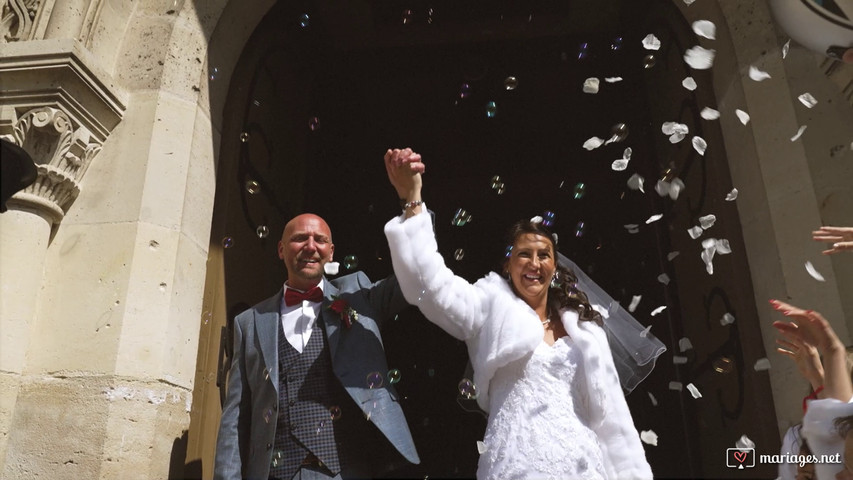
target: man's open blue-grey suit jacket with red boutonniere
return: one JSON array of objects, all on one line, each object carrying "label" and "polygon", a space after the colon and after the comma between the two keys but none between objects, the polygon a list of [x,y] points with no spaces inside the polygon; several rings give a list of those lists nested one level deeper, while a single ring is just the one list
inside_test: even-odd
[{"label": "man's open blue-grey suit jacket with red boutonniere", "polygon": [[[323,278],[323,282],[320,317],[335,376],[356,405],[365,414],[370,412],[369,421],[400,454],[420,463],[397,393],[387,382],[381,388],[368,388],[366,380],[372,372],[388,372],[379,328],[408,305],[396,277],[374,284],[356,272],[332,281]],[[351,327],[328,308],[335,298],[346,300],[358,312]],[[281,299],[279,290],[234,319],[234,354],[216,442],[214,479],[269,478],[276,422],[265,421],[264,412],[278,404]]]}]

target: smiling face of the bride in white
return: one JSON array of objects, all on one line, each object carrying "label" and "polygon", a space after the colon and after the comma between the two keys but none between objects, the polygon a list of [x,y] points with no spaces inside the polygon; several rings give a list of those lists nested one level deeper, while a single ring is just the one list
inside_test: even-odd
[{"label": "smiling face of the bride in white", "polygon": [[541,302],[547,302],[548,287],[557,270],[554,244],[544,235],[519,235],[512,246],[506,270],[516,294],[536,309]]}]

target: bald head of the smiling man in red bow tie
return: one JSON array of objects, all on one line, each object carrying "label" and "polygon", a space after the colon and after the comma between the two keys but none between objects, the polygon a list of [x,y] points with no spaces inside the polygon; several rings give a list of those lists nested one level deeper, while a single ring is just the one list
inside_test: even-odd
[{"label": "bald head of the smiling man in red bow tie", "polygon": [[323,278],[323,266],[332,260],[335,245],[326,221],[317,215],[295,217],[284,227],[278,242],[278,258],[287,268],[287,283],[307,290]]}]

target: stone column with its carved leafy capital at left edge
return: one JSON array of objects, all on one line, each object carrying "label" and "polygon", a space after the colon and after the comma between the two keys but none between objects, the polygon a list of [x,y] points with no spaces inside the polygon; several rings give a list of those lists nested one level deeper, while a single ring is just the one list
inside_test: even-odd
[{"label": "stone column with its carved leafy capital at left edge", "polygon": [[30,154],[38,176],[0,214],[0,460],[26,369],[47,247],[124,109],[73,41],[13,42],[3,49],[0,137]]}]

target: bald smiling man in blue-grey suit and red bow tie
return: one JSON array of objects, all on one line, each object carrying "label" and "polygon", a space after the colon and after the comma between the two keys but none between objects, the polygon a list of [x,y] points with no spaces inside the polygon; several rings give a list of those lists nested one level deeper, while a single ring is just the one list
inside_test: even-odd
[{"label": "bald smiling man in blue-grey suit and red bow tie", "polygon": [[215,479],[370,478],[420,463],[379,334],[406,301],[394,276],[327,280],[334,251],[322,218],[290,220],[284,288],[234,320]]}]

